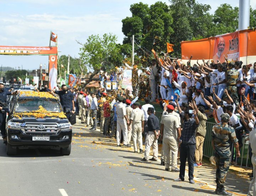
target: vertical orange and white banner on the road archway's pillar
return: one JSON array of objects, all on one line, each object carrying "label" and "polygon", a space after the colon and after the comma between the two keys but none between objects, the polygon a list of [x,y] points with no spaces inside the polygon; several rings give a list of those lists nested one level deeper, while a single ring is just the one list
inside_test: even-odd
[{"label": "vertical orange and white banner on the road archway's pillar", "polygon": [[49,89],[53,89],[54,87],[57,86],[57,60],[58,56],[57,55],[49,55]]}]

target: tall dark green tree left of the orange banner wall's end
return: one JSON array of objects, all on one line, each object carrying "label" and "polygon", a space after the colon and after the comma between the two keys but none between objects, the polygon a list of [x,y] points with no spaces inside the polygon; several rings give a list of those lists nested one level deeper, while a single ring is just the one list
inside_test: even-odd
[{"label": "tall dark green tree left of the orange banner wall's end", "polygon": [[[166,42],[170,42],[170,33],[173,32],[171,27],[173,19],[170,15],[170,8],[163,2],[156,2],[150,7],[142,2],[130,6],[132,17],[126,17],[122,20],[122,31],[126,36],[122,49],[129,53],[126,58],[130,59],[131,39],[135,37],[135,60],[136,65],[149,66],[152,59],[151,49],[166,52]],[[123,50],[122,50],[123,51]]]}]

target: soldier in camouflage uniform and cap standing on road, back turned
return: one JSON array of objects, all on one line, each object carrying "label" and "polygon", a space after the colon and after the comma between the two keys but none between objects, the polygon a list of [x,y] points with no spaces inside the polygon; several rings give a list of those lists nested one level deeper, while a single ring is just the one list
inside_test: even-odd
[{"label": "soldier in camouflage uniform and cap standing on road, back turned", "polygon": [[220,115],[221,122],[215,125],[212,129],[212,147],[215,150],[216,161],[216,183],[217,188],[215,193],[218,195],[232,195],[224,189],[226,173],[230,166],[230,140],[234,143],[236,156],[240,156],[238,139],[236,138],[235,130],[228,125],[230,119],[229,114]]}]

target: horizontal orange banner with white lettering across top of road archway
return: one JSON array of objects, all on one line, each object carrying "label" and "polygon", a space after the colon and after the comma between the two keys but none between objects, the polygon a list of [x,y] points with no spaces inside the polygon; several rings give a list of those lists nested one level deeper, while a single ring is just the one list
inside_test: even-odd
[{"label": "horizontal orange banner with white lettering across top of road archway", "polygon": [[0,46],[0,54],[4,55],[57,55],[57,47]]}]

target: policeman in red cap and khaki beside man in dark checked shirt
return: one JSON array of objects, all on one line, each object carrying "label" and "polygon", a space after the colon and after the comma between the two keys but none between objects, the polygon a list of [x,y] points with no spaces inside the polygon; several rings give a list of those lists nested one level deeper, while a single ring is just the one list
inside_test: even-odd
[{"label": "policeman in red cap and khaki beside man in dark checked shirt", "polygon": [[180,122],[178,121],[178,118],[176,115],[174,115],[174,113],[175,112],[173,105],[165,104],[164,112],[162,114],[162,119],[160,122],[160,133],[161,135],[164,135],[162,146],[164,149],[165,170],[171,170],[171,172],[180,172],[180,170],[177,168],[177,133],[178,138],[180,138],[181,129]]}]

